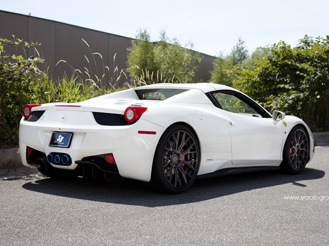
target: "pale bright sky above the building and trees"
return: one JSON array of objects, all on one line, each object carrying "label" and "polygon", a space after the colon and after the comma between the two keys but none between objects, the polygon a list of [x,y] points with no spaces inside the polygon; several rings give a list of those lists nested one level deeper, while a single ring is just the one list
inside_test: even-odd
[{"label": "pale bright sky above the building and trees", "polygon": [[239,37],[252,52],[280,40],[296,46],[305,34],[329,35],[328,0],[0,0],[0,10],[127,37],[146,28],[153,41],[165,30],[209,55],[228,54]]}]

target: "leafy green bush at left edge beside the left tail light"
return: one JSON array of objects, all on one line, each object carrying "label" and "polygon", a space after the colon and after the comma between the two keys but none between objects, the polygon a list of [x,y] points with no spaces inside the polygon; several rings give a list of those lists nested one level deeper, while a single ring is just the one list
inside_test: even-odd
[{"label": "leafy green bush at left edge beside the left tail light", "polygon": [[25,49],[38,44],[24,43],[22,39],[0,38],[0,147],[17,143],[22,106],[33,92],[33,80],[44,76],[36,65],[42,64],[40,57],[24,57],[5,53],[6,46]]}]

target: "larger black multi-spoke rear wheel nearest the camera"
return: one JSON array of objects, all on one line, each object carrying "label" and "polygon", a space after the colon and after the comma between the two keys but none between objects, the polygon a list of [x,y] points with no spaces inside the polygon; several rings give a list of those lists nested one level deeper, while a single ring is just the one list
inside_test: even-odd
[{"label": "larger black multi-spoke rear wheel nearest the camera", "polygon": [[184,125],[163,133],[155,151],[151,185],[158,191],[180,193],[190,188],[200,166],[195,134]]}]

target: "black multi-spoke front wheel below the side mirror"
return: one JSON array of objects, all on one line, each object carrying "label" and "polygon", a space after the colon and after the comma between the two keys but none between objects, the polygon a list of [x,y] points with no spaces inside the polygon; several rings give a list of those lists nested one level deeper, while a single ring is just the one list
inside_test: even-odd
[{"label": "black multi-spoke front wheel below the side mirror", "polygon": [[304,128],[294,127],[283,148],[281,168],[291,174],[297,174],[305,169],[309,158],[309,139]]}]

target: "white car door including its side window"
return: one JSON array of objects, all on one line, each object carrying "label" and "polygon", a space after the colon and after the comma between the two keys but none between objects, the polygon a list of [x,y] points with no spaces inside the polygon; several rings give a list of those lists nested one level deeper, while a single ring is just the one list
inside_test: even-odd
[{"label": "white car door including its side window", "polygon": [[212,93],[230,123],[233,165],[270,165],[281,161],[283,126],[237,91]]}]

